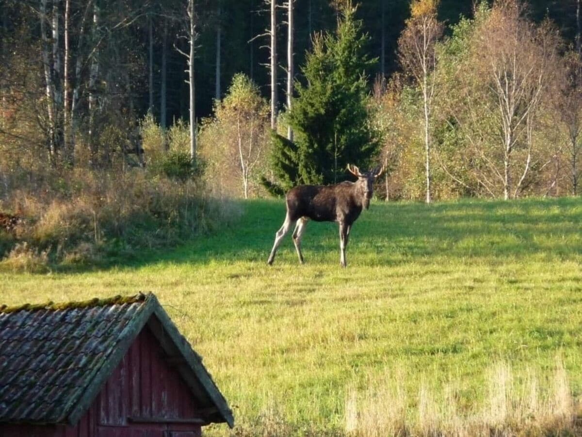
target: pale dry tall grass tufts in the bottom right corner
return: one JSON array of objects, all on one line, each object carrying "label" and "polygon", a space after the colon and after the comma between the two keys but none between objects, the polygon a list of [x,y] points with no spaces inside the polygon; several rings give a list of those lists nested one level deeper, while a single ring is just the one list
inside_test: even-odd
[{"label": "pale dry tall grass tufts in the bottom right corner", "polygon": [[347,390],[346,434],[379,436],[545,436],[580,435],[579,403],[574,399],[561,357],[556,357],[545,387],[537,371],[527,368],[519,378],[507,362],[489,368],[484,401],[464,410],[452,385],[437,393],[421,381],[409,396],[402,379],[382,377],[364,392]]}]

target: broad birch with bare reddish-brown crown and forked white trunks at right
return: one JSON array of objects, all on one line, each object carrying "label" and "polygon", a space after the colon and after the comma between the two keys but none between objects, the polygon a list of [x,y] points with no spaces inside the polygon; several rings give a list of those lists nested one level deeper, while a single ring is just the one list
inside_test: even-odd
[{"label": "broad birch with bare reddish-brown crown and forked white trunks at right", "polygon": [[[501,177],[506,200],[519,195],[531,170],[531,134],[557,56],[553,30],[547,26],[536,28],[523,12],[517,0],[496,3],[477,33],[473,52],[473,64],[484,73],[482,79],[489,84],[499,120],[503,166],[496,173]],[[523,170],[512,171],[520,142],[526,147]]]}]

